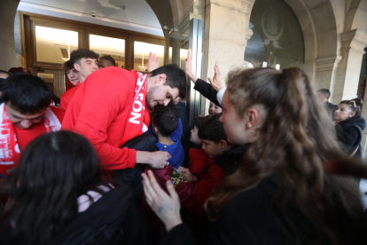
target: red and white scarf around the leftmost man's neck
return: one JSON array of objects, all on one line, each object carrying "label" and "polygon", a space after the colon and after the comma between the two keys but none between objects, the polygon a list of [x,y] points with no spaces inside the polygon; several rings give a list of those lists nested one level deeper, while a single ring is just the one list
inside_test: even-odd
[{"label": "red and white scarf around the leftmost man's neck", "polygon": [[[44,132],[59,131],[61,128],[58,117],[50,107],[46,110],[43,123]],[[18,165],[19,158],[20,146],[17,142],[17,135],[3,103],[0,105],[0,174],[8,176],[10,171]]]}]

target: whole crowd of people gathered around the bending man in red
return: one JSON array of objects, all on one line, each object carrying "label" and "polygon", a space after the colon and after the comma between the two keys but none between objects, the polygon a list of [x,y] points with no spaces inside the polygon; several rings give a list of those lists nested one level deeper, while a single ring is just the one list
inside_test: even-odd
[{"label": "whole crowd of people gathered around the bending man in red", "polygon": [[[207,83],[73,51],[60,100],[0,71],[0,244],[367,244],[362,99],[298,67]],[[190,119],[186,75],[210,100]],[[190,82],[190,83],[191,83]]]}]

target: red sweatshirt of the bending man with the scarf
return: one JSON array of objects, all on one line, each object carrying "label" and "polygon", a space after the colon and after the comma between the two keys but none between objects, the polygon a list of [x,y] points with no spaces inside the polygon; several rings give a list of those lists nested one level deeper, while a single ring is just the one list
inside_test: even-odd
[{"label": "red sweatshirt of the bending man with the scarf", "polygon": [[[133,103],[137,74],[106,67],[87,77],[66,109],[63,130],[90,139],[105,170],[133,168],[136,151],[119,148]],[[146,105],[144,107],[147,108]]]}]

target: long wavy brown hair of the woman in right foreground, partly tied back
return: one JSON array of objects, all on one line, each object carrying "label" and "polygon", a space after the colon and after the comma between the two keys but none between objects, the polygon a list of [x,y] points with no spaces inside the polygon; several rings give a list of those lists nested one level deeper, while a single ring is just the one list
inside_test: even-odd
[{"label": "long wavy brown hair of the woman in right foreground, partly tied back", "polygon": [[258,106],[263,118],[238,170],[224,178],[217,194],[207,201],[209,217],[215,219],[235,195],[273,176],[282,190],[280,206],[288,220],[285,233],[300,238],[297,233],[301,231],[286,218],[285,204],[292,197],[296,208],[313,225],[316,243],[339,244],[343,237],[340,223],[330,221],[340,217],[341,210],[343,216],[362,222],[363,207],[354,179],[324,172],[325,162],[352,160],[340,148],[307,75],[298,67],[287,68],[283,74],[271,68],[255,68],[232,71],[227,81],[226,92],[237,115],[244,118],[249,108]]}]

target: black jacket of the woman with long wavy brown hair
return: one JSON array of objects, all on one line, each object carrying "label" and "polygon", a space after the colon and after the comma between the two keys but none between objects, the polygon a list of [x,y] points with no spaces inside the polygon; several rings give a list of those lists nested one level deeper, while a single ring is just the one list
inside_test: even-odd
[{"label": "black jacket of the woman with long wavy brown hair", "polygon": [[[201,244],[316,244],[313,225],[293,198],[287,199],[283,209],[285,193],[280,186],[275,178],[265,178],[258,186],[231,198],[219,212],[207,242]],[[367,244],[367,222],[363,216],[350,217],[343,209],[339,213],[338,217],[330,218],[330,225],[337,226],[340,244]],[[173,228],[160,244],[199,242],[188,226],[182,224]]]}]

